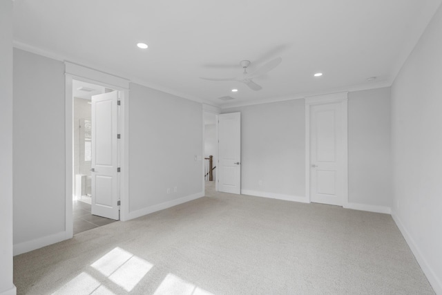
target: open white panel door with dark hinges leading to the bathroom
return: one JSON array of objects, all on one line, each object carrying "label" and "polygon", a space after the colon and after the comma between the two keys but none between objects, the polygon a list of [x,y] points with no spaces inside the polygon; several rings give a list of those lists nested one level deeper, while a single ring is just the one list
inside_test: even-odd
[{"label": "open white panel door with dark hinges leading to the bathroom", "polygon": [[118,92],[92,97],[93,215],[119,220]]}]

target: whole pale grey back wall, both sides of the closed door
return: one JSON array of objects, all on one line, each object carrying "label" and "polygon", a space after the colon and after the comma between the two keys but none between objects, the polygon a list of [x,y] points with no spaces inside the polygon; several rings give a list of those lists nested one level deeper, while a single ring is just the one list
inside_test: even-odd
[{"label": "whole pale grey back wall, both sides of the closed door", "polygon": [[[242,193],[306,202],[304,99],[222,113],[236,111],[242,120]],[[349,93],[348,142],[349,207],[390,212],[390,88]]]}]

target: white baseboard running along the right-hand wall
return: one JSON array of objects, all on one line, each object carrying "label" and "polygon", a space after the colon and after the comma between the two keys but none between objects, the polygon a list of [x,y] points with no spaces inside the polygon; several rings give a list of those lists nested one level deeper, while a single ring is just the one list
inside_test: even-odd
[{"label": "white baseboard running along the right-hand wall", "polygon": [[438,278],[432,267],[427,262],[427,259],[422,255],[421,250],[419,250],[419,247],[416,245],[416,242],[414,242],[414,238],[410,235],[410,233],[405,229],[402,221],[398,216],[392,211],[392,218],[394,222],[396,222],[396,225],[398,226],[399,230],[402,233],[402,236],[407,241],[408,247],[412,250],[414,257],[416,258],[417,262],[419,263],[419,266],[421,267],[423,273],[427,277],[427,280],[430,282],[430,285],[433,287],[434,292],[436,294],[442,294],[442,282],[441,278]]}]

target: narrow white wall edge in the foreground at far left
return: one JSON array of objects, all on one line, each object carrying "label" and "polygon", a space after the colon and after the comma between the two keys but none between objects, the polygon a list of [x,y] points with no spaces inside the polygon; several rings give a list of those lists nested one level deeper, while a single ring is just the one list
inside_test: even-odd
[{"label": "narrow white wall edge in the foreground at far left", "polygon": [[0,294],[12,283],[12,1],[0,1]]}]

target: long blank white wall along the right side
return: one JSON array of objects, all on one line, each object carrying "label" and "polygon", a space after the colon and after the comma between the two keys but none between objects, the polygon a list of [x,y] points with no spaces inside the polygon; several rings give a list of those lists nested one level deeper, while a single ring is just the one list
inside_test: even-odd
[{"label": "long blank white wall along the right side", "polygon": [[392,86],[394,219],[442,294],[442,8]]}]

